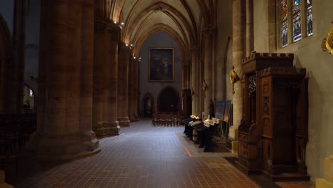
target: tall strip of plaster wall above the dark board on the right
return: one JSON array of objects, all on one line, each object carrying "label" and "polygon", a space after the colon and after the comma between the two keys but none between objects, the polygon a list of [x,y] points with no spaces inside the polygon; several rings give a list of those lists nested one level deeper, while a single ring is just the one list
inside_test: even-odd
[{"label": "tall strip of plaster wall above the dark board on the right", "polygon": [[232,67],[232,1],[217,3],[217,42],[216,42],[216,100],[231,99],[231,84],[228,72]]}]

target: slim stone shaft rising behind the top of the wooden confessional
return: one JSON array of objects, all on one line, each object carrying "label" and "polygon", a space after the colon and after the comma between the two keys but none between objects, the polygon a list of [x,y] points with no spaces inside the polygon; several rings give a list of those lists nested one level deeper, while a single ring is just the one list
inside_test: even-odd
[{"label": "slim stone shaft rising behind the top of the wooden confessional", "polygon": [[253,51],[253,39],[253,0],[246,0],[246,57]]}]

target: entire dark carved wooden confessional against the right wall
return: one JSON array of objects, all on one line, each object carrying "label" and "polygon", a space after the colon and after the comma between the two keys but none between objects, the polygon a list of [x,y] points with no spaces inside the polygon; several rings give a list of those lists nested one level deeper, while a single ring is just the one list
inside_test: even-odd
[{"label": "entire dark carved wooden confessional against the right wall", "polygon": [[252,53],[242,68],[243,119],[237,166],[273,181],[310,180],[307,145],[307,77],[290,53]]}]

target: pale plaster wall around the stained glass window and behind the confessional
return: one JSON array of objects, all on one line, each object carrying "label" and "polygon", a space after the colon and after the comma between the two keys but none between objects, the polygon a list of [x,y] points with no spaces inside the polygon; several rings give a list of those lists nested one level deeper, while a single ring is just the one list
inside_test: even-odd
[{"label": "pale plaster wall around the stained glass window and behind the confessional", "polygon": [[[268,51],[267,1],[254,1],[255,51]],[[309,142],[306,163],[312,181],[324,177],[324,158],[333,154],[333,56],[320,48],[333,26],[332,0],[312,1],[313,36],[302,38],[279,53],[295,53],[296,67],[307,68],[309,75]],[[266,11],[263,11],[266,10]]]}]

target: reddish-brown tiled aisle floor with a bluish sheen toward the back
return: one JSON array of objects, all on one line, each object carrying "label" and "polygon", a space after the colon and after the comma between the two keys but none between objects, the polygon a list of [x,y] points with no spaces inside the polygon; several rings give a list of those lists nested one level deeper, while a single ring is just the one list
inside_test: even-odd
[{"label": "reddish-brown tiled aisle floor with a bluish sheen toward the back", "polygon": [[31,177],[16,187],[259,187],[223,158],[232,154],[203,153],[183,131],[132,122],[102,138],[102,152],[92,157],[48,168],[29,163]]}]

